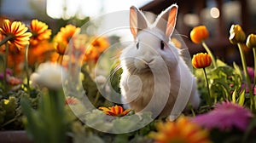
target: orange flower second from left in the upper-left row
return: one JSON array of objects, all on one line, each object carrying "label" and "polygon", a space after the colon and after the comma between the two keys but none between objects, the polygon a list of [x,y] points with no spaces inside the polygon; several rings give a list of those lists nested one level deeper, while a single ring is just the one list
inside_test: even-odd
[{"label": "orange flower second from left in the upper-left row", "polygon": [[48,26],[38,20],[31,21],[30,30],[32,32],[32,38],[30,39],[32,45],[37,45],[40,41],[48,40],[51,35],[51,30],[48,29]]}]

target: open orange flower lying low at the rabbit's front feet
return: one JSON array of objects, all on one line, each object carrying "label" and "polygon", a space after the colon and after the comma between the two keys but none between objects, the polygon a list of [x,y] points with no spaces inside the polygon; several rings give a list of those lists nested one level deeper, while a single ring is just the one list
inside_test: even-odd
[{"label": "open orange flower lying low at the rabbit's front feet", "polygon": [[108,108],[101,106],[99,109],[101,109],[105,114],[115,117],[123,117],[131,111],[131,109],[126,109],[124,111],[123,107],[121,106],[111,106]]}]

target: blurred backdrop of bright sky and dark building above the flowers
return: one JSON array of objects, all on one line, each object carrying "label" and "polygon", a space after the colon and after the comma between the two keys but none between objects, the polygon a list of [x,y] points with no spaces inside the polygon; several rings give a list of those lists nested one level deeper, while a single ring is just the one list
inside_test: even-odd
[{"label": "blurred backdrop of bright sky and dark building above the flowers", "polygon": [[[90,17],[129,10],[131,5],[160,14],[172,3],[179,6],[176,28],[190,54],[204,52],[201,44],[190,41],[189,32],[194,26],[205,25],[210,31],[206,43],[213,53],[228,64],[241,64],[238,49],[229,42],[230,26],[239,24],[247,35],[255,33],[256,0],[0,0],[0,21],[8,18],[29,24],[32,19],[42,20],[55,35],[67,23],[82,26]],[[244,49],[248,66],[252,66],[252,50]]]}]

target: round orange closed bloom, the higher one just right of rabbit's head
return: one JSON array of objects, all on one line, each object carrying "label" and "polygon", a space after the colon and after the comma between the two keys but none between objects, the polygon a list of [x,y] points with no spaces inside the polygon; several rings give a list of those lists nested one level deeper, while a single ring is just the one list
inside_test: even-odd
[{"label": "round orange closed bloom, the higher one just right of rabbit's head", "polygon": [[193,43],[201,43],[209,37],[206,26],[196,26],[190,31],[190,38]]}]

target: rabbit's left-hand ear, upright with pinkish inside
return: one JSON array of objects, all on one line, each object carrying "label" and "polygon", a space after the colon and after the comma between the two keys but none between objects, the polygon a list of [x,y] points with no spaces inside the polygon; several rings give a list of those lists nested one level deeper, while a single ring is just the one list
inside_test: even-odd
[{"label": "rabbit's left-hand ear, upright with pinkish inside", "polygon": [[137,32],[148,27],[145,15],[136,7],[130,8],[130,29],[134,38],[137,37]]}]

